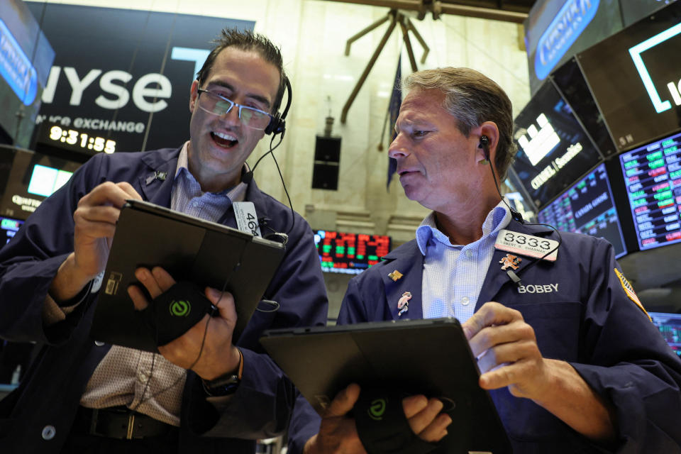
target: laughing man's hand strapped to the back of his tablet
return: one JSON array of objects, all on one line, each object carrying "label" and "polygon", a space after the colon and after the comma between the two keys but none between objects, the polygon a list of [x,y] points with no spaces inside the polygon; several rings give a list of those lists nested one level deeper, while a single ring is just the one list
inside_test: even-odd
[{"label": "laughing man's hand strapped to the back of his tablet", "polygon": [[[135,277],[152,298],[158,297],[175,284],[175,279],[161,267],[154,267],[152,270],[138,268],[135,270]],[[134,285],[128,287],[128,294],[135,304],[135,309],[138,311],[146,309],[149,302],[140,288]],[[238,349],[232,345],[236,309],[234,298],[228,292],[222,294],[219,290],[206,287],[205,294],[211,303],[217,306],[218,314],[212,318],[206,314],[182,336],[160,345],[158,351],[173,364],[184,369],[191,368],[204,380],[214,380],[233,372],[239,365]]]}]

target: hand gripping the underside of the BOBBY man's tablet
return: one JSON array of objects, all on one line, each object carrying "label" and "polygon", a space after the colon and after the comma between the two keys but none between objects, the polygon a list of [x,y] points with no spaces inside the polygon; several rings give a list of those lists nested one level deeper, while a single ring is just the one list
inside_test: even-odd
[{"label": "hand gripping the underside of the BOBBY man's tablet", "polygon": [[[305,443],[304,454],[366,454],[355,428],[355,420],[346,416],[360,397],[358,384],[350,384],[333,399],[321,419],[319,433]],[[423,441],[435,443],[447,435],[452,423],[441,414],[443,404],[423,395],[402,399],[402,409],[411,430]]]}]

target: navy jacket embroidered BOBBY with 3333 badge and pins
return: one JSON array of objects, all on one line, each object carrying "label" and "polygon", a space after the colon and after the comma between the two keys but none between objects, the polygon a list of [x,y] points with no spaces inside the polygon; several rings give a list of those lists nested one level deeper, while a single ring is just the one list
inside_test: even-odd
[{"label": "navy jacket embroidered BOBBY with 3333 badge and pins", "polygon": [[[515,221],[511,231],[558,240],[555,233]],[[523,314],[545,358],[570,362],[616,409],[617,453],[680,453],[681,360],[643,310],[627,297],[605,240],[561,233],[556,262],[541,261],[516,287],[495,250],[475,310],[497,301]],[[522,270],[531,260],[524,260]],[[388,273],[404,274],[394,282]],[[411,292],[408,318],[421,319],[423,255],[416,240],[350,281],[338,323],[397,320],[397,302]],[[541,287],[538,287],[541,286]],[[401,317],[404,319],[404,315]],[[433,347],[437,347],[434,345]],[[529,399],[507,388],[491,392],[515,453],[592,453],[602,450]],[[449,428],[455,435],[456,428]]]}]

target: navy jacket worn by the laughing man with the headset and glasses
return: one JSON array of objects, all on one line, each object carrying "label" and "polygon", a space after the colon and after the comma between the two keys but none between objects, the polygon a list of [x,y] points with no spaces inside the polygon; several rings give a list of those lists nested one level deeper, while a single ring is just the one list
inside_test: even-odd
[{"label": "navy jacket worn by the laughing man with the headset and glasses", "polygon": [[[70,182],[43,201],[16,237],[0,250],[0,336],[42,344],[20,387],[0,402],[0,452],[58,453],[69,433],[89,377],[110,345],[89,338],[96,295],[89,295],[65,321],[45,328],[42,310],[50,282],[73,250],[73,212],[79,199],[105,181],[129,182],[143,199],[170,206],[178,149],[96,155]],[[155,172],[169,177],[148,179]],[[246,200],[274,231],[286,232],[292,211],[260,192],[251,182]],[[231,210],[231,209],[230,209]],[[199,377],[189,371],[182,398],[179,453],[253,453],[255,439],[286,431],[299,449],[319,429],[319,419],[258,339],[269,328],[326,323],[327,300],[313,233],[296,216],[287,250],[265,299],[278,301],[276,312],[256,311],[238,340],[244,356],[243,380],[228,408],[217,414],[206,402]],[[226,225],[236,228],[229,216]],[[269,228],[261,226],[263,234]],[[301,401],[302,402],[302,401]],[[45,439],[43,429],[55,428]],[[48,437],[49,438],[49,437]]]}]

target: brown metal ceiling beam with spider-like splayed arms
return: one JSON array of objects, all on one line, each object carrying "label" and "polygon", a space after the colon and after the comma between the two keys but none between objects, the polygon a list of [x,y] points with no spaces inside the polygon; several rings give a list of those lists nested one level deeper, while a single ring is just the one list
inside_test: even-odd
[{"label": "brown metal ceiling beam with spider-like splayed arms", "polygon": [[421,21],[423,18],[430,13],[433,15],[433,19],[440,18],[443,14],[453,14],[456,16],[467,16],[467,17],[477,17],[484,19],[492,19],[495,21],[506,21],[513,23],[523,23],[528,16],[532,5],[535,0],[464,0],[464,1],[454,1],[454,0],[327,0],[327,1],[337,1],[341,3],[350,4],[362,4],[367,6],[379,6],[388,8],[389,11],[384,18],[375,21],[370,26],[367,26],[362,31],[355,33],[355,35],[348,38],[345,45],[345,55],[350,55],[350,45],[355,40],[358,40],[362,36],[375,30],[375,28],[381,26],[385,22],[389,22],[389,26],[385,31],[383,38],[380,40],[375,52],[367,62],[364,72],[355,84],[353,92],[348,97],[348,101],[345,102],[343,106],[343,111],[341,112],[341,123],[345,123],[348,118],[348,111],[350,106],[352,106],[355,96],[362,88],[369,72],[371,71],[374,63],[376,62],[378,56],[383,50],[384,45],[387,43],[388,38],[392,34],[395,26],[399,24],[402,30],[402,38],[404,39],[404,45],[406,51],[409,54],[409,63],[411,65],[411,70],[416,72],[418,68],[416,67],[416,58],[414,57],[414,51],[411,48],[411,40],[409,38],[409,33],[414,35],[414,38],[419,41],[421,47],[423,48],[423,57],[421,57],[421,63],[426,60],[426,55],[428,55],[428,45],[421,38],[419,31],[414,27],[414,23],[411,22],[409,17],[405,16],[400,11],[416,11],[416,18]]}]

